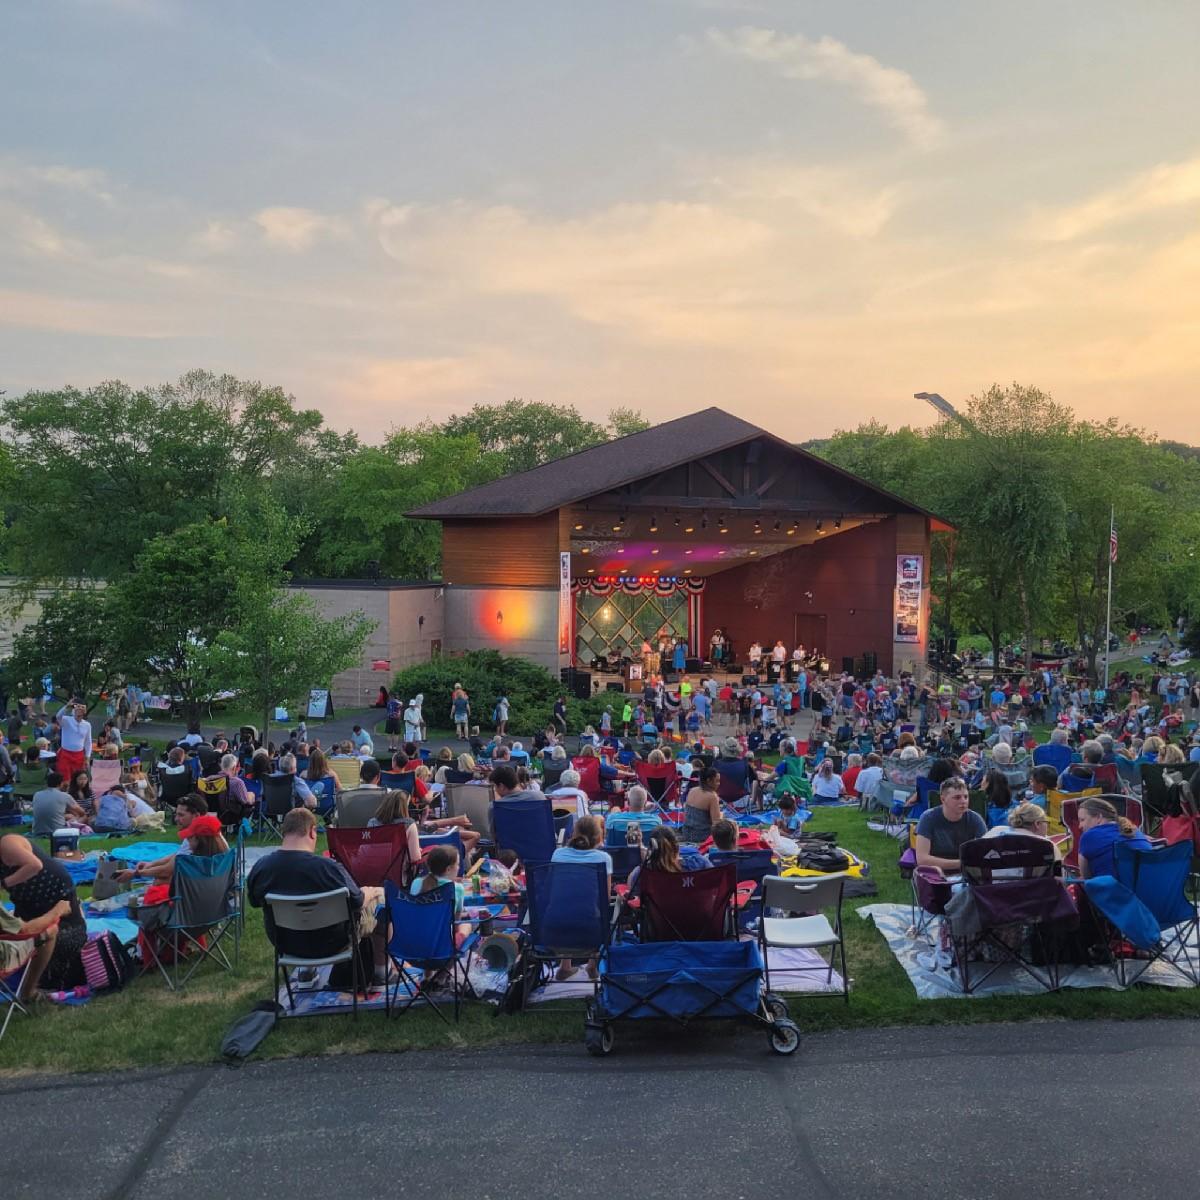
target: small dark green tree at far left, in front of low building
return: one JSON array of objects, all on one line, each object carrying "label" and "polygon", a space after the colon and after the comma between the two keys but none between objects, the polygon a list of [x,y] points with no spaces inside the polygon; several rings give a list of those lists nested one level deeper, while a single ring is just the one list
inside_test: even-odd
[{"label": "small dark green tree at far left, in front of low building", "polygon": [[125,666],[116,630],[114,596],[107,588],[47,596],[37,620],[13,638],[13,684],[20,695],[41,695],[42,678],[49,674],[64,698],[103,691]]}]

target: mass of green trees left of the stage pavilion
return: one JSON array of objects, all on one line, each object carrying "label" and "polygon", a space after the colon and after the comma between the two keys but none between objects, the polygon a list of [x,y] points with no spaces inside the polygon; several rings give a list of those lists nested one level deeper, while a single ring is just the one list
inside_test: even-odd
[{"label": "mass of green trees left of the stage pavilion", "polygon": [[224,689],[266,714],[353,666],[361,614],[326,620],[293,577],[436,578],[436,523],[404,512],[646,427],[570,406],[476,406],[380,445],[280,388],[194,371],[0,397],[0,571],[49,587],[0,684],[95,694],[120,678],[188,714]]}]

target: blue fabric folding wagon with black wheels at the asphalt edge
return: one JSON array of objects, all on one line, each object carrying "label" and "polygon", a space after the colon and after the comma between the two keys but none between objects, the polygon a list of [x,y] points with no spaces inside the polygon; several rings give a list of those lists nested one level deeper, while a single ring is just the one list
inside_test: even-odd
[{"label": "blue fabric folding wagon with black wheels at the asphalt edge", "polygon": [[613,1046],[616,1021],[667,1020],[686,1027],[713,1018],[764,1026],[778,1054],[792,1054],[800,1044],[787,1004],[764,989],[762,954],[755,942],[608,947],[600,960],[596,998],[588,1004],[584,1043],[590,1054],[606,1055]]}]

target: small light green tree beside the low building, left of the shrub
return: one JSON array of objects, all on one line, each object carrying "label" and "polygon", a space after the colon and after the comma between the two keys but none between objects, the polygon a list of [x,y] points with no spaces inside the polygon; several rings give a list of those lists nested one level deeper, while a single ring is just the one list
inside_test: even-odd
[{"label": "small light green tree beside the low building, left of the shrub", "polygon": [[226,686],[262,712],[265,736],[277,704],[302,710],[311,688],[328,688],[359,661],[373,629],[360,612],[326,619],[305,595],[244,586],[235,624],[217,636],[210,661]]}]

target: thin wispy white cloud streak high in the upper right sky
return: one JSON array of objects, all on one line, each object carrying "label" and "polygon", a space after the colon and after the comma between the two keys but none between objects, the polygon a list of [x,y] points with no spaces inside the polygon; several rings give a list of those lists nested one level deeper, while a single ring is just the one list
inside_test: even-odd
[{"label": "thin wispy white cloud streak high in the upper right sky", "polygon": [[745,25],[732,32],[710,29],[707,40],[722,54],[766,64],[788,79],[823,79],[845,85],[923,149],[942,138],[943,125],[930,113],[929,101],[911,74],[884,66],[870,54],[857,53],[836,38],[814,41],[803,34],[788,36]]}]

